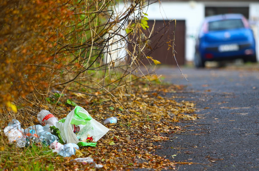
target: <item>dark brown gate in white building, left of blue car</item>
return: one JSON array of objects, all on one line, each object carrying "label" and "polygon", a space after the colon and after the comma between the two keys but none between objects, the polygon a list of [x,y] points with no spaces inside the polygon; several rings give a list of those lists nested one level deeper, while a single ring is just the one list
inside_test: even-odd
[{"label": "dark brown gate in white building, left of blue car", "polygon": [[[155,21],[154,32],[151,36],[150,46],[154,49],[151,52],[146,52],[146,56],[151,56],[153,59],[160,61],[163,65],[176,65],[173,56],[172,45],[174,40],[175,30],[175,57],[179,65],[185,63],[185,21],[177,20],[176,28],[175,21],[168,24],[169,21]],[[154,21],[149,20],[149,30],[153,27]],[[143,60],[147,64],[147,60]]]}]

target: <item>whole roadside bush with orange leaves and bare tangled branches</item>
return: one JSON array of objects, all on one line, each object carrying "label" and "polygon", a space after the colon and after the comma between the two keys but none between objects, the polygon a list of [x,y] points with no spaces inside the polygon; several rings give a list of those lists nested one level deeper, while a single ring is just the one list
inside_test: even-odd
[{"label": "whole roadside bush with orange leaves and bare tangled branches", "polygon": [[[136,23],[144,21],[146,14],[142,10],[148,4],[143,0],[126,2],[0,1],[0,108],[7,106],[17,111],[12,102],[19,97],[33,91],[46,95],[52,87],[75,91],[71,89],[75,88],[74,83],[81,86],[77,91],[91,89],[84,92],[89,96],[100,94],[102,90],[127,87],[137,68],[132,68],[133,65],[139,65],[138,59],[146,58],[144,51],[149,37],[143,40],[144,33],[137,33],[143,24]],[[118,3],[125,5],[120,13],[116,9]],[[121,35],[120,30],[125,34]],[[134,35],[134,39],[130,40],[129,34]],[[105,55],[111,54],[109,47],[122,41],[125,45],[120,49],[125,48],[127,54],[102,62]],[[128,50],[126,42],[135,48]],[[111,49],[113,53],[118,50]],[[121,59],[124,62],[116,62]],[[96,76],[96,73],[101,74]]]}]

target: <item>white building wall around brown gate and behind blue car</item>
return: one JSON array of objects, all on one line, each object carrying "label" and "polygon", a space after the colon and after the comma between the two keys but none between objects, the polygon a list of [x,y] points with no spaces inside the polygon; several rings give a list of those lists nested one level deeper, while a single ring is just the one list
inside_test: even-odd
[{"label": "white building wall around brown gate and behind blue car", "polygon": [[[118,9],[123,9],[124,4],[120,4]],[[128,4],[129,6],[129,4]],[[156,2],[150,4],[147,10],[143,10],[148,14],[150,20],[185,20],[186,36],[185,36],[185,57],[187,61],[192,61],[195,53],[195,39],[197,38],[200,26],[205,18],[205,6],[215,7],[249,7],[249,21],[252,24],[256,41],[257,41],[257,59],[259,61],[259,3],[258,2],[180,2],[170,1],[161,3]],[[177,34],[177,33],[176,33]],[[177,44],[176,44],[177,46]],[[125,53],[125,52],[124,52]]]}]

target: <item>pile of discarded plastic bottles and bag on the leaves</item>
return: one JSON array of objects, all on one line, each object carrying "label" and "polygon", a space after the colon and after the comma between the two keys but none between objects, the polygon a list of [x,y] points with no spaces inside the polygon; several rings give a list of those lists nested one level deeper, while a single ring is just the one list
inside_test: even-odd
[{"label": "pile of discarded plastic bottles and bag on the leaves", "polygon": [[[61,120],[47,110],[41,110],[37,119],[42,125],[33,125],[25,129],[21,128],[21,123],[16,119],[9,122],[4,128],[4,134],[8,137],[9,143],[16,143],[16,147],[19,148],[41,144],[48,146],[60,156],[70,157],[76,154],[79,147],[95,147],[97,141],[109,131],[80,106],[76,106]],[[117,122],[116,117],[108,120],[109,123]],[[104,123],[108,124],[107,119]],[[91,157],[76,158],[74,161],[93,163],[96,168],[102,167],[95,164]]]}]

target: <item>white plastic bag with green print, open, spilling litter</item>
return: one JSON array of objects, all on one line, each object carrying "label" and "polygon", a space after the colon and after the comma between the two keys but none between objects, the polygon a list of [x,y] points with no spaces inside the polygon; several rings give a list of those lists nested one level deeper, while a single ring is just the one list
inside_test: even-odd
[{"label": "white plastic bag with green print, open, spilling litter", "polygon": [[76,106],[66,118],[59,120],[56,127],[60,130],[60,136],[66,143],[78,144],[80,140],[92,137],[97,142],[109,129],[93,119],[82,107]]}]

